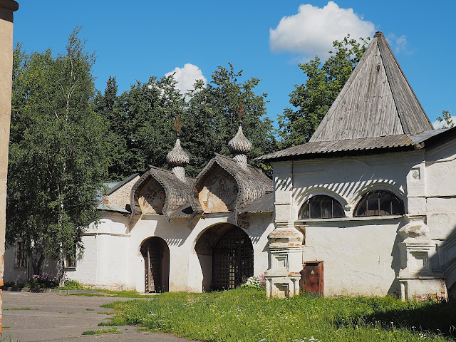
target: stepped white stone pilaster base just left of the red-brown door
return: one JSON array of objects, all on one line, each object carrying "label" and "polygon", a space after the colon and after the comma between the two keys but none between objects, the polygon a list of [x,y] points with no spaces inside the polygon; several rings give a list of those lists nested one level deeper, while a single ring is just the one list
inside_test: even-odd
[{"label": "stepped white stone pilaster base just left of the red-brown door", "polygon": [[265,272],[266,296],[286,298],[299,294],[304,235],[293,222],[276,222],[269,234],[269,269]]}]

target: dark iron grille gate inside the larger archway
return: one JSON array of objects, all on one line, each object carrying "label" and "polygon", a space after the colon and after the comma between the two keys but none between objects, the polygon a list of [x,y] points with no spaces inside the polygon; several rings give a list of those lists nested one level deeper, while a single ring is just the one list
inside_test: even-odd
[{"label": "dark iron grille gate inside the larger archway", "polygon": [[253,274],[252,242],[242,229],[232,229],[217,242],[212,253],[212,289],[234,289]]}]

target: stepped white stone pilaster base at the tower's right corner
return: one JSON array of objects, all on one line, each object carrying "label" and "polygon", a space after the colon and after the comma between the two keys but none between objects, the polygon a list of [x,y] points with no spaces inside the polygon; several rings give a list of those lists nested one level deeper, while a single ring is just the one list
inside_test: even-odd
[{"label": "stepped white stone pilaster base at the tower's right corner", "polygon": [[447,288],[438,264],[435,244],[429,237],[425,217],[410,217],[399,230],[402,269],[399,272],[400,296],[405,300],[447,299]]}]

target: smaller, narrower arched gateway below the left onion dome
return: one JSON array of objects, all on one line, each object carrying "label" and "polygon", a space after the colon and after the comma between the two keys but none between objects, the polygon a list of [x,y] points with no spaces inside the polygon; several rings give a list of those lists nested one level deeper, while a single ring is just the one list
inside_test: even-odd
[{"label": "smaller, narrower arched gateway below the left onion dome", "polygon": [[150,237],[141,246],[144,258],[145,292],[169,291],[170,249],[160,237]]}]

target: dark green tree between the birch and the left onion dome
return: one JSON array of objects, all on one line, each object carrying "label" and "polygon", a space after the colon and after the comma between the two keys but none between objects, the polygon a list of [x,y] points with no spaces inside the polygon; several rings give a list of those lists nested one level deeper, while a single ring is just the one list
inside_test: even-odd
[{"label": "dark green tree between the birch and the left onion dome", "polygon": [[110,130],[110,180],[144,172],[147,165],[166,167],[167,152],[175,142],[173,120],[185,107],[175,84],[172,76],[151,77],[147,83],[136,81],[118,96],[115,78],[110,77],[105,93],[98,93],[95,110]]}]

